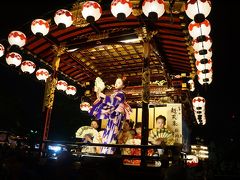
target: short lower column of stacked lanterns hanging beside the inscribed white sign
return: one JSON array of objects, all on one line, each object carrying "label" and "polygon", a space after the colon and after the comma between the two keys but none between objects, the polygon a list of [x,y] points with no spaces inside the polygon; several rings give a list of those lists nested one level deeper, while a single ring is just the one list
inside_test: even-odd
[{"label": "short lower column of stacked lanterns hanging beside the inscribed white sign", "polygon": [[192,99],[194,116],[198,124],[206,124],[206,115],[205,115],[205,104],[206,101],[203,97],[197,96]]}]

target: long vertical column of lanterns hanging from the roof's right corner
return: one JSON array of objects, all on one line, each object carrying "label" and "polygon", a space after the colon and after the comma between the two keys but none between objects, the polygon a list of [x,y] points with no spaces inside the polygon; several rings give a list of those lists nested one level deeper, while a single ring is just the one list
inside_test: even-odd
[{"label": "long vertical column of lanterns hanging from the roof's right corner", "polygon": [[211,24],[206,17],[211,12],[210,0],[188,0],[185,4],[186,15],[192,19],[188,25],[189,35],[193,38],[192,47],[198,70],[198,82],[201,85],[212,82],[212,39],[209,36]]}]

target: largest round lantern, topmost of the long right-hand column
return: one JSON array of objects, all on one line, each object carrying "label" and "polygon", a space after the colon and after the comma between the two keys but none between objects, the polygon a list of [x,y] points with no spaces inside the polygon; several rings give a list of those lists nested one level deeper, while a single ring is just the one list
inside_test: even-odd
[{"label": "largest round lantern, topmost of the long right-hand column", "polygon": [[211,12],[210,0],[188,0],[185,4],[187,16],[196,23],[201,23]]}]

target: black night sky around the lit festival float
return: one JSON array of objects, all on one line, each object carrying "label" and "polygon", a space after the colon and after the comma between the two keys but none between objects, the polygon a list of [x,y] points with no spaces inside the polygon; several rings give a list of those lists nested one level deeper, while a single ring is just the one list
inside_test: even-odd
[{"label": "black night sky around the lit festival float", "polygon": [[[50,2],[50,1],[49,1]],[[74,1],[67,1],[74,2]],[[225,3],[224,3],[225,2]],[[226,3],[227,2],[227,3]],[[212,10],[207,19],[211,23],[210,36],[213,41],[213,82],[200,95],[206,99],[207,124],[196,127],[195,133],[209,138],[239,137],[239,21],[236,1],[212,1]],[[0,7],[0,38],[7,38],[10,31],[16,30],[25,23],[41,17],[45,12],[64,7],[65,1],[53,1],[51,4],[40,4],[25,1],[6,1],[9,6]],[[29,6],[32,6],[31,10]],[[29,27],[30,28],[30,27]],[[0,40],[1,40],[0,39]],[[5,61],[0,58],[1,61]],[[0,63],[0,129],[25,131],[28,128],[38,129],[42,122],[42,99],[44,85],[19,74]],[[79,110],[79,100],[73,100],[57,94],[55,97],[54,121],[52,130],[55,137],[63,132],[75,132],[74,128],[87,123],[87,117]],[[205,134],[206,133],[206,134]],[[70,133],[71,134],[71,133]],[[69,134],[67,134],[69,135]],[[71,134],[72,135],[72,134]],[[62,135],[63,136],[63,135]]]}]

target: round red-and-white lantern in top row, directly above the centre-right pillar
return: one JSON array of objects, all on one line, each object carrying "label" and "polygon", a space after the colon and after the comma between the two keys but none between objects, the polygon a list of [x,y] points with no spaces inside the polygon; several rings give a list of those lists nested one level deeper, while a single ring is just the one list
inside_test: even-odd
[{"label": "round red-and-white lantern in top row, directly above the centre-right pillar", "polygon": [[144,0],[142,3],[142,11],[150,20],[156,21],[165,12],[165,4],[163,0]]}]

